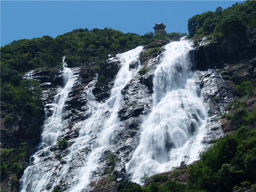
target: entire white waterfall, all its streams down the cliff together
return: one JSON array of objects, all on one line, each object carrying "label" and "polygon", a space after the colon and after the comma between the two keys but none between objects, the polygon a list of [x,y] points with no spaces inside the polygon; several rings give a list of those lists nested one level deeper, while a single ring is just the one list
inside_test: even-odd
[{"label": "entire white waterfall, all its streams down the cliff together", "polygon": [[[89,184],[100,180],[105,174],[106,149],[114,146],[121,151],[118,149],[119,144],[114,143],[114,139],[119,136],[115,131],[119,126],[125,127],[125,124],[121,124],[124,121],[119,121],[117,115],[120,107],[125,105],[121,90],[131,79],[137,78],[142,66],[129,69],[129,64],[138,61],[142,49],[139,46],[112,58],[119,61],[121,68],[107,100],[95,100],[92,90],[97,78],[87,85],[84,90],[87,100],[86,110],[82,113],[84,118],[73,124],[79,128],[79,134],[69,140],[71,146],[61,152],[56,150],[56,143],[64,134],[63,126],[67,126],[67,122],[62,121],[64,103],[74,85],[74,75],[63,61],[65,86],[59,90],[51,104],[52,114],[46,118],[41,143],[24,172],[21,192],[51,192],[55,186],[60,185],[67,192],[87,192],[93,189]],[[131,181],[139,183],[144,172],[153,175],[169,171],[182,161],[190,164],[199,158],[199,151],[205,147],[202,140],[206,134],[208,114],[200,98],[196,77],[191,71],[187,55],[191,49],[189,41],[171,42],[165,45],[165,51],[157,58],[157,65],[154,64],[153,107],[150,113],[143,113],[145,119],[139,124],[140,139],[137,134],[136,140],[139,144],[131,152],[132,157],[129,157],[128,162],[120,160]],[[152,98],[151,92],[148,95]],[[148,100],[151,106],[152,100]],[[61,161],[56,158],[57,155]]]}]

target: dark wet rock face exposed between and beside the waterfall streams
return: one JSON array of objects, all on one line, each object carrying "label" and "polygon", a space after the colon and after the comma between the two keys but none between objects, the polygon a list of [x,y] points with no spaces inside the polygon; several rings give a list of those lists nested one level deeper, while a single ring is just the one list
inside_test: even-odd
[{"label": "dark wet rock face exposed between and beside the waterfall streams", "polygon": [[[201,96],[209,116],[206,127],[208,135],[203,139],[206,146],[210,145],[213,138],[219,138],[224,133],[233,131],[232,124],[227,119],[219,120],[219,118],[225,113],[228,103],[233,102],[234,96],[239,94],[232,84],[239,83],[256,72],[255,37],[256,29],[254,28],[247,30],[246,33],[231,34],[222,44],[219,42],[211,43],[190,51],[191,60],[194,63],[193,69],[196,70],[194,71],[194,78],[198,86],[197,92]],[[159,40],[152,45],[148,45],[148,48],[159,48],[167,43],[168,41]],[[111,144],[102,148],[102,155],[97,168],[88,176],[91,183],[84,191],[115,192],[115,185],[124,181],[128,175],[125,164],[131,160],[134,150],[139,145],[140,126],[153,107],[154,69],[161,59],[162,51],[164,51],[164,47],[159,48],[159,51],[153,55],[140,58],[140,62],[130,63],[130,69],[137,70],[147,67],[150,70],[144,75],[137,74],[134,76],[121,90],[123,103],[117,111],[118,124],[111,135]],[[72,156],[71,161],[67,162],[65,156],[71,152],[74,139],[79,135],[82,121],[94,115],[88,104],[89,95],[87,90],[94,86],[92,93],[96,102],[106,102],[106,99],[110,96],[118,66],[119,63],[115,60],[113,65],[109,64],[100,72],[99,76],[103,75],[105,79],[112,79],[105,86],[100,84],[94,86],[97,81],[94,80],[97,70],[92,65],[72,69],[75,81],[72,90],[68,93],[68,99],[65,101],[65,113],[62,116],[63,121],[65,121],[65,126],[62,128],[62,137],[67,140],[68,147],[60,150],[59,146],[54,145],[51,150],[55,153],[55,157],[42,154],[45,155],[43,157],[46,160],[46,167],[43,169],[53,170],[53,179],[47,184],[47,189],[56,185],[54,183],[55,179],[60,174],[60,170],[68,163],[70,169],[66,170],[66,178],[58,181],[58,189],[67,191],[71,184],[74,185],[78,182],[73,178],[77,177],[81,167],[86,163],[86,159],[91,155],[90,144],[93,144],[102,128],[98,127],[97,130],[91,131],[91,140],[88,141],[88,145],[85,145],[79,153],[76,153],[79,155]],[[34,79],[40,81],[44,88],[42,99],[45,105],[45,113],[43,114],[51,116],[53,98],[63,87],[62,71],[57,68],[38,70],[34,72]],[[255,101],[255,98],[245,98],[250,110],[256,109]],[[5,104],[1,102],[1,105],[3,106],[3,108],[1,106],[1,109],[4,109]],[[20,139],[26,141],[33,138],[33,141],[30,142],[34,146],[40,141],[39,122],[31,120],[29,124],[24,124],[23,119],[18,119],[13,124],[3,124],[2,126],[2,114],[1,142],[5,147],[16,146],[17,140]],[[106,119],[110,115],[110,112],[106,110],[99,120]],[[113,161],[110,161],[110,155],[112,155]],[[33,164],[33,159],[31,159],[31,164]],[[174,181],[184,183],[186,174],[183,172],[183,168],[179,169],[180,172],[176,176],[174,171],[161,174],[168,174],[168,177]],[[5,181],[3,185],[1,184],[1,188],[7,184],[6,182],[8,181]],[[3,191],[8,191],[8,189],[3,189]]]}]

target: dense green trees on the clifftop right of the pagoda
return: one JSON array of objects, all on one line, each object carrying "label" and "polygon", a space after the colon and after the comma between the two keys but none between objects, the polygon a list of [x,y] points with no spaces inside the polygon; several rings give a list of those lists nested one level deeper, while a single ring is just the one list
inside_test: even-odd
[{"label": "dense green trees on the clifftop right of the pagoda", "polygon": [[190,37],[213,35],[220,39],[230,33],[256,27],[256,1],[247,0],[231,7],[197,14],[188,20]]}]

